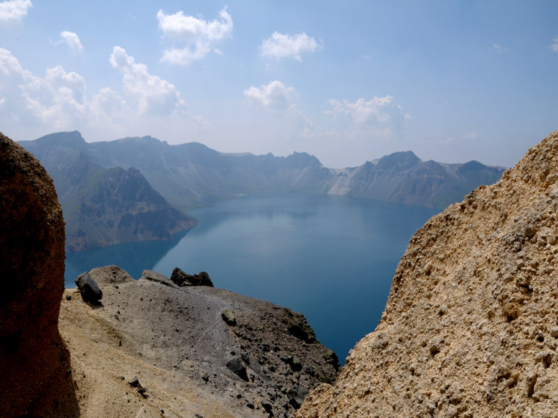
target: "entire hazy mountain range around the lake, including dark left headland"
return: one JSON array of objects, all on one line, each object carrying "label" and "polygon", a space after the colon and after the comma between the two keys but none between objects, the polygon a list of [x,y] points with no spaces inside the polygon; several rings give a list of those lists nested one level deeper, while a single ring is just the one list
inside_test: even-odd
[{"label": "entire hazy mountain range around the lake, including dark left headland", "polygon": [[329,169],[307,153],[220,153],[149,136],[87,143],[77,131],[20,145],[54,180],[68,251],[169,238],[195,224],[179,210],[256,192],[340,194],[442,209],[478,185],[495,183],[504,171],[476,161],[423,162],[411,151]]}]

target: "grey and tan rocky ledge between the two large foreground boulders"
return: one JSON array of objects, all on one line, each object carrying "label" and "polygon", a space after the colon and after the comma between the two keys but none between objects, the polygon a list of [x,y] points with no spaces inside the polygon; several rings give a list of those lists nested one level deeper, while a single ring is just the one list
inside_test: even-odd
[{"label": "grey and tan rocky ledge between the two large foreground boulders", "polygon": [[66,289],[60,311],[82,418],[294,417],[338,376],[337,357],[289,309],[151,270],[89,273],[100,303]]}]

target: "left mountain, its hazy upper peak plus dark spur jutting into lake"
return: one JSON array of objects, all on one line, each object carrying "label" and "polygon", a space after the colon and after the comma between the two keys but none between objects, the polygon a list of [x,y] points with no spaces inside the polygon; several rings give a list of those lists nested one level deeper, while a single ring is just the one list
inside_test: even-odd
[{"label": "left mountain, its hazy upper peak plus dark spur jutting into lake", "polygon": [[51,173],[66,221],[66,251],[170,239],[197,221],[156,192],[140,171],[91,162],[79,132],[24,143]]}]

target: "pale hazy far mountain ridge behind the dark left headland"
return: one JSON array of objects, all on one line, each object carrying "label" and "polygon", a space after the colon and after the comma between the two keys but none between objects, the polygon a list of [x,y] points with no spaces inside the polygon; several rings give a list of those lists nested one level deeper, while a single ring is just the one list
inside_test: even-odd
[{"label": "pale hazy far mountain ridge behind the dark left headland", "polygon": [[[202,144],[171,146],[152,137],[88,144],[79,132],[59,132],[21,144],[49,172],[65,167],[68,157],[80,153],[105,169],[136,167],[154,189],[181,210],[242,194],[290,191],[347,194],[444,208],[478,185],[494,183],[503,172],[478,162],[423,162],[410,151],[387,155],[361,167],[328,169],[306,153],[288,157],[225,154]],[[56,173],[52,176],[56,184]]]}]

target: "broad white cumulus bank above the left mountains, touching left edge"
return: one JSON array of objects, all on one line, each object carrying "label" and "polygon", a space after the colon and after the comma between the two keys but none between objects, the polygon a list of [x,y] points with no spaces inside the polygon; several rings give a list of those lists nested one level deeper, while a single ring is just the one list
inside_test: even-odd
[{"label": "broad white cumulus bank above the left mountains, touching left edge", "polygon": [[172,84],[150,75],[124,49],[115,47],[110,61],[123,73],[124,97],[107,87],[88,98],[85,79],[76,72],[56,65],[44,76],[34,75],[0,48],[0,125],[40,134],[89,129],[101,135],[160,133],[168,139],[205,127],[201,117],[188,113]]}]

